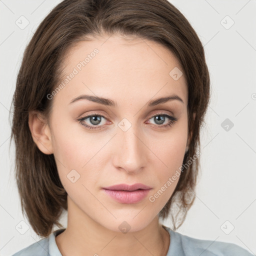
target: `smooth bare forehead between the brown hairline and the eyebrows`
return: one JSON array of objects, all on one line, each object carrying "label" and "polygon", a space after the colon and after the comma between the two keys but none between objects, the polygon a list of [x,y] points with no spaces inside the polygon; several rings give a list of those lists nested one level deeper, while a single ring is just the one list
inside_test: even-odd
[{"label": "smooth bare forehead between the brown hairline and the eyebrows", "polygon": [[178,59],[167,47],[152,40],[118,34],[91,37],[70,48],[63,63],[61,81],[76,70],[59,93],[66,99],[89,93],[116,101],[120,100],[118,95],[130,100],[140,96],[147,101],[154,95],[175,93],[187,104],[184,73],[173,79],[173,70],[178,70],[178,75],[183,72]]}]

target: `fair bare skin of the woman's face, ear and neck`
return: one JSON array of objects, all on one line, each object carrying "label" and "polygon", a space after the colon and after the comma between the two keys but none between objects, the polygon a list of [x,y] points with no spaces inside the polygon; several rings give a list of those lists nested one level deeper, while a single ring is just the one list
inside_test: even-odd
[{"label": "fair bare skin of the woman's face, ear and neck", "polygon": [[[119,34],[101,35],[81,41],[64,58],[63,77],[87,54],[99,52],[51,100],[49,119],[29,113],[29,127],[38,148],[53,153],[60,180],[67,191],[67,228],[56,236],[62,255],[166,255],[169,235],[158,222],[178,178],[155,199],[156,193],[182,165],[189,143],[187,127],[188,92],[184,75],[174,80],[169,72],[182,70],[175,56],[154,41]],[[149,100],[178,95],[147,107]],[[86,99],[81,95],[101,96],[116,101],[118,107]],[[98,126],[85,128],[77,118],[103,115]],[[177,118],[163,127],[152,116],[162,113]],[[131,124],[123,131],[118,123]],[[87,125],[96,126],[89,118]],[[125,124],[126,125],[126,124]],[[80,177],[73,183],[68,173],[75,169]],[[103,186],[143,183],[152,189],[138,203],[116,202],[102,191]],[[130,230],[120,231],[126,221]]]}]

